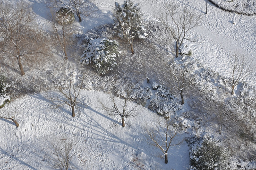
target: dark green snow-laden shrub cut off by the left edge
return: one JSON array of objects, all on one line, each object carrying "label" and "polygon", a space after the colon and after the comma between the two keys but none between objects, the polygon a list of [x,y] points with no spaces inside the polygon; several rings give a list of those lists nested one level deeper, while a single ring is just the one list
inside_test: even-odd
[{"label": "dark green snow-laden shrub cut off by the left edge", "polygon": [[6,102],[9,102],[10,97],[7,95],[9,84],[7,78],[4,75],[0,75],[0,108],[2,108]]}]

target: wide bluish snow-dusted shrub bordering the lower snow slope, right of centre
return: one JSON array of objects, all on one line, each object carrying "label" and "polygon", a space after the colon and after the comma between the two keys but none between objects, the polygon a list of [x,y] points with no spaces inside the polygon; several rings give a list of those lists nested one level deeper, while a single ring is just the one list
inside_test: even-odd
[{"label": "wide bluish snow-dusted shrub bordering the lower snow slope, right of centre", "polygon": [[150,100],[148,109],[156,111],[162,116],[173,115],[181,108],[178,98],[167,90],[163,85],[153,84],[154,97]]}]

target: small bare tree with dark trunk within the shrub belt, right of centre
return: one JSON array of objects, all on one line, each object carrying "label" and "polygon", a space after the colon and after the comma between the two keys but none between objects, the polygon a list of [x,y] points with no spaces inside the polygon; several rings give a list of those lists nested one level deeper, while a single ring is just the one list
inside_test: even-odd
[{"label": "small bare tree with dark trunk within the shrub belt, right of centre", "polygon": [[189,65],[178,65],[175,61],[172,62],[170,67],[171,80],[174,83],[174,88],[179,91],[181,104],[185,103],[183,92],[188,89],[192,82],[188,67]]}]

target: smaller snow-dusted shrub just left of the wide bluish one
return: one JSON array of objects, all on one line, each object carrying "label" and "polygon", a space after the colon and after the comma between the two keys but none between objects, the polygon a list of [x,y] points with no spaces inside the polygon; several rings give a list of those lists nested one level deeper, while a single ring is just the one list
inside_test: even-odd
[{"label": "smaller snow-dusted shrub just left of the wide bluish one", "polygon": [[145,106],[146,101],[152,96],[151,89],[149,87],[143,87],[140,84],[134,86],[134,90],[130,93],[129,98]]}]

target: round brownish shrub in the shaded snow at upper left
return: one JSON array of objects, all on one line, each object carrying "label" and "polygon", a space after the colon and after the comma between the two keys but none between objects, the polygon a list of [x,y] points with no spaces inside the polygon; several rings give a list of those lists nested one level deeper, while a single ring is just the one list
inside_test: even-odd
[{"label": "round brownish shrub in the shaded snow at upper left", "polygon": [[73,11],[68,8],[60,8],[56,12],[56,21],[60,24],[70,24],[75,20]]}]

